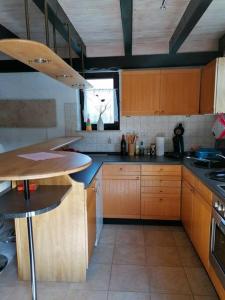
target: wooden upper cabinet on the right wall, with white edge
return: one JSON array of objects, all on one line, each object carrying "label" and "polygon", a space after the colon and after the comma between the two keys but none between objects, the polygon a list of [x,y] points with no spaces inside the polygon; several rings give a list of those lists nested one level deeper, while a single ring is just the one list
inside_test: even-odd
[{"label": "wooden upper cabinet on the right wall, with white edge", "polygon": [[202,69],[200,113],[225,112],[225,57],[217,58]]}]

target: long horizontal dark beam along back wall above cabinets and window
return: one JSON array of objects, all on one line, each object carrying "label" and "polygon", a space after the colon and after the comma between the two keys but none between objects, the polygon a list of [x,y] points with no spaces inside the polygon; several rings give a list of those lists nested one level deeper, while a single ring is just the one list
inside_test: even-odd
[{"label": "long horizontal dark beam along back wall above cabinets and window", "polygon": [[[86,71],[117,71],[120,69],[143,69],[143,68],[168,68],[189,67],[206,65],[213,59],[219,57],[219,52],[196,52],[156,54],[156,55],[134,55],[113,57],[88,57],[85,59]],[[68,59],[66,60],[68,61]],[[73,67],[82,71],[80,58],[73,59]],[[18,61],[0,61],[1,72],[34,72],[33,69]]]}]

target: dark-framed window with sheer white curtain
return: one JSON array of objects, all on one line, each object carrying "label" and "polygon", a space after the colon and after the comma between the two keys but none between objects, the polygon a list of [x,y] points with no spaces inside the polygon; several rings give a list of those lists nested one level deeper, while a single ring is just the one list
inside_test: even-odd
[{"label": "dark-framed window with sheer white curtain", "polygon": [[80,91],[81,128],[85,130],[89,117],[92,129],[97,129],[97,122],[101,114],[105,130],[119,130],[119,74],[88,73],[86,80],[93,89]]}]

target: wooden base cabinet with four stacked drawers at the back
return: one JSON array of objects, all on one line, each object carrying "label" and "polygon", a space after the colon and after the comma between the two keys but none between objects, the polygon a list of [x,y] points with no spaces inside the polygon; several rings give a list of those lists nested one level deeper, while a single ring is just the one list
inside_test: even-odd
[{"label": "wooden base cabinet with four stacked drawers at the back", "polygon": [[141,218],[180,219],[181,166],[141,166]]}]

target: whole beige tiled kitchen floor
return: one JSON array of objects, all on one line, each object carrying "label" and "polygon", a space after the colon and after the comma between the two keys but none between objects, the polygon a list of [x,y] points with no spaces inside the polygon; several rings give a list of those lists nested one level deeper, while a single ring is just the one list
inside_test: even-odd
[{"label": "whole beige tiled kitchen floor", "polygon": [[[39,283],[40,300],[216,300],[181,227],[105,225],[85,283]],[[0,275],[1,300],[27,300],[15,262]]]}]

